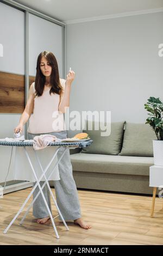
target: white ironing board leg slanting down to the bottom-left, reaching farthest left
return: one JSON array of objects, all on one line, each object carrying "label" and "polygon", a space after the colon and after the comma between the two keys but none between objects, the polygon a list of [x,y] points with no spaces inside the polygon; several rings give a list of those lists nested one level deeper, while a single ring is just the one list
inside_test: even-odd
[{"label": "white ironing board leg slanting down to the bottom-left, reaching farthest left", "polygon": [[[25,148],[25,147],[23,147],[23,148],[24,148],[24,150],[26,151],[26,148]],[[39,180],[36,181],[35,186],[33,187],[32,191],[29,193],[27,199],[26,199],[26,200],[24,201],[24,203],[22,204],[20,210],[18,210],[17,214],[16,214],[15,217],[12,219],[12,221],[10,222],[10,224],[8,225],[8,227],[3,231],[4,234],[7,233],[7,231],[9,230],[9,228],[11,227],[11,225],[14,223],[14,221],[16,220],[16,218],[18,217],[18,215],[20,215],[20,213],[21,213],[22,210],[24,209],[24,206],[27,204],[29,198],[32,196],[32,194],[33,194],[35,188],[36,188],[37,185],[39,184],[39,182],[40,182],[40,180],[42,179],[43,175],[47,172],[49,166],[50,166],[51,163],[53,162],[53,160],[54,160],[55,156],[57,155],[58,151],[59,151],[59,148],[55,151],[55,154],[54,154],[54,156],[52,157],[52,160],[48,163],[48,165],[47,165],[47,167],[46,167],[44,173],[41,175],[41,177],[39,178]]]}]

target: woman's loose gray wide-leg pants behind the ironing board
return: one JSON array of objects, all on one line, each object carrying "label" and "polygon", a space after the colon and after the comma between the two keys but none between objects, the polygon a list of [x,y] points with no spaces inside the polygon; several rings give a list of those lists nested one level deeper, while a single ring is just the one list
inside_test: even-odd
[{"label": "woman's loose gray wide-leg pants behind the ironing board", "polygon": [[[28,139],[33,139],[34,136],[39,136],[45,133],[29,133],[28,132]],[[57,138],[63,139],[67,138],[67,132],[48,132],[48,134],[55,135]],[[57,153],[58,159],[61,156],[64,147],[61,147]],[[78,191],[76,183],[73,179],[72,174],[72,164],[70,161],[70,149],[66,148],[66,152],[62,157],[60,163],[58,164],[59,168],[59,175],[60,180],[54,180],[54,188],[55,188],[55,196],[57,199],[58,207],[61,211],[62,216],[64,217],[65,221],[76,220],[77,218],[82,217],[80,211],[80,204],[78,198]],[[43,185],[44,181],[40,181],[40,186]],[[33,184],[33,186],[35,183]],[[33,198],[39,192],[39,187],[37,186],[34,193]],[[43,194],[51,210],[51,197],[48,191],[47,185],[43,188]],[[33,215],[35,218],[44,218],[49,216],[48,211],[46,209],[45,203],[43,202],[43,198],[41,193],[39,197],[35,200],[33,204]],[[59,220],[61,220],[59,216]]]}]

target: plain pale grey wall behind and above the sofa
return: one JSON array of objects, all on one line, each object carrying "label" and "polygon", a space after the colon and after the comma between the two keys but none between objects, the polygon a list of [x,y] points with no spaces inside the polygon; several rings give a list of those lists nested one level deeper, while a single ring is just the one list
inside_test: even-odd
[{"label": "plain pale grey wall behind and above the sofa", "polygon": [[70,111],[111,111],[145,123],[149,96],[163,100],[163,13],[67,25],[67,69],[76,72]]}]

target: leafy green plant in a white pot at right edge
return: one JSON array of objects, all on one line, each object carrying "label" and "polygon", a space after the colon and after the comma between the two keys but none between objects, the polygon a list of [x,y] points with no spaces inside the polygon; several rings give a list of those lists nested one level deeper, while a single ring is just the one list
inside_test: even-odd
[{"label": "leafy green plant in a white pot at right edge", "polygon": [[158,139],[153,139],[154,164],[163,166],[163,103],[159,98],[149,97],[145,104],[149,112],[146,124],[149,124]]}]

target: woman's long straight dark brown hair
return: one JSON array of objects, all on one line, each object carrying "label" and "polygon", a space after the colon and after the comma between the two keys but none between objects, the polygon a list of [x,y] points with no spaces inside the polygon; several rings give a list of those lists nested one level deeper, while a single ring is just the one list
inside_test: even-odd
[{"label": "woman's long straight dark brown hair", "polygon": [[47,61],[49,62],[49,65],[52,67],[52,73],[51,73],[51,90],[49,91],[49,94],[51,93],[57,93],[60,95],[62,87],[59,80],[59,70],[58,70],[58,63],[57,59],[55,58],[54,54],[52,52],[43,51],[39,54],[37,58],[37,66],[36,66],[36,78],[35,78],[35,90],[36,96],[41,96],[43,94],[43,89],[45,86],[46,78],[42,74],[42,71],[40,69],[40,63],[41,58],[45,57]]}]

